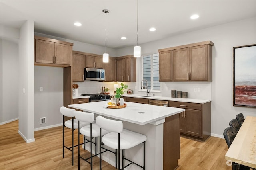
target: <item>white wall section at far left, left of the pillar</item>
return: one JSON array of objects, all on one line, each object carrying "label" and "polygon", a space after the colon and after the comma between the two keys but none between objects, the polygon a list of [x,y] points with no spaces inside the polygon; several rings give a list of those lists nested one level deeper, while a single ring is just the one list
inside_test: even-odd
[{"label": "white wall section at far left, left of the pillar", "polygon": [[0,125],[18,119],[18,43],[0,39]]}]

